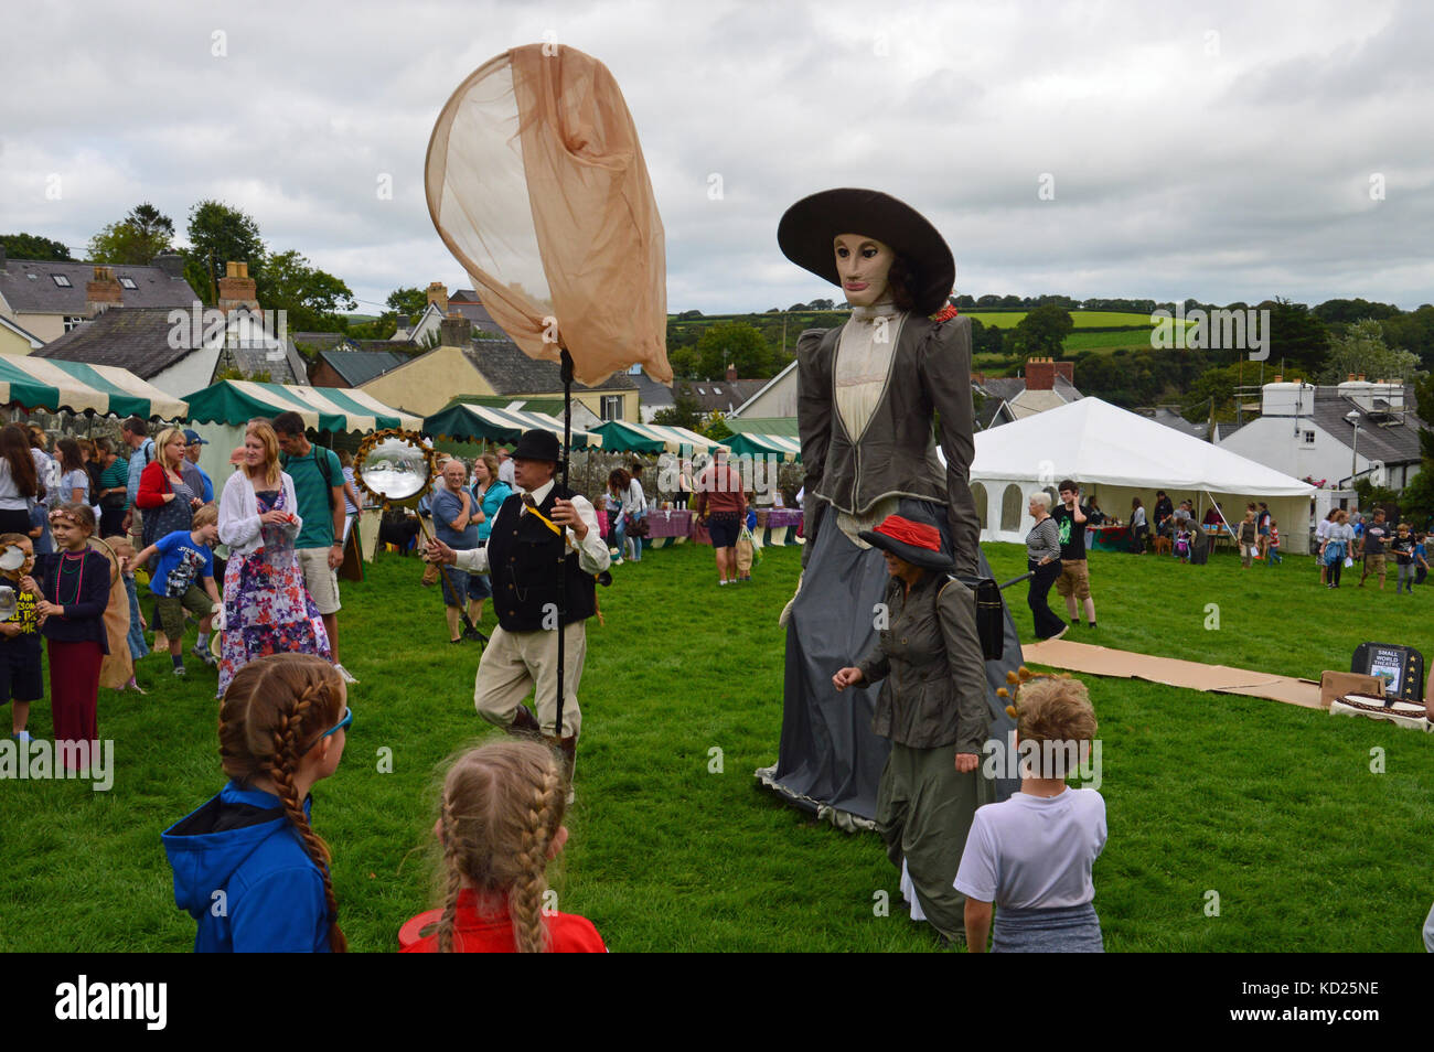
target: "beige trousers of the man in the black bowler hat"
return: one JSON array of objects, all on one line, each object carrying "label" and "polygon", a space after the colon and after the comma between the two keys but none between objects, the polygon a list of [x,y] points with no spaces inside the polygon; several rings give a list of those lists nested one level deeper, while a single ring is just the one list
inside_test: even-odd
[{"label": "beige trousers of the man in the black bowler hat", "polygon": [[473,684],[478,714],[492,724],[509,727],[523,699],[536,692],[538,722],[542,732],[561,738],[575,737],[582,727],[578,709],[578,682],[588,656],[587,623],[576,621],[564,628],[562,734],[554,731],[558,718],[558,633],[508,632],[502,626],[483,648]]}]

